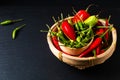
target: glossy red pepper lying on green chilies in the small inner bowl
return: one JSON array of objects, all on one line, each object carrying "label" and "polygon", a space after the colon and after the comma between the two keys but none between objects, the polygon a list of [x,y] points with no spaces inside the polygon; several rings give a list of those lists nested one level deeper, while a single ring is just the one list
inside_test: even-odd
[{"label": "glossy red pepper lying on green chilies in the small inner bowl", "polygon": [[76,34],[74,28],[68,23],[67,20],[62,22],[62,31],[63,33],[71,40],[76,40]]}]

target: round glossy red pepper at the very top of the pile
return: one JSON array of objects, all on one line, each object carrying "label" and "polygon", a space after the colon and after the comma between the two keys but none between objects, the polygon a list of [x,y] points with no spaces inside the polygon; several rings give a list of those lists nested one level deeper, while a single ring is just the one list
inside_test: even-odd
[{"label": "round glossy red pepper at the very top of the pile", "polygon": [[75,16],[73,17],[73,22],[83,22],[85,19],[87,19],[90,16],[90,14],[86,10],[80,10],[78,11]]}]

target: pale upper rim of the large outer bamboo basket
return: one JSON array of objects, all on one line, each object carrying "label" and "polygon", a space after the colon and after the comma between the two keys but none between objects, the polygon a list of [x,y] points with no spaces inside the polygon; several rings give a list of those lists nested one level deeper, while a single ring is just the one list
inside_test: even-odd
[{"label": "pale upper rim of the large outer bamboo basket", "polygon": [[[68,18],[65,18],[65,19],[69,19],[69,18],[72,18],[72,17],[68,17]],[[60,22],[61,22],[61,21],[62,21],[62,20],[60,20]],[[56,26],[57,24],[58,24],[58,22],[56,22],[55,24],[53,24],[52,27],[51,27],[51,29],[55,28],[55,26]],[[102,58],[102,57],[106,56],[107,54],[109,54],[109,53],[107,53],[107,51],[108,51],[109,49],[112,49],[113,46],[116,46],[116,42],[117,42],[117,32],[116,32],[115,27],[113,27],[111,31],[112,31],[112,39],[113,39],[113,41],[112,41],[112,43],[111,43],[111,46],[110,46],[104,53],[98,55],[97,57],[82,57],[82,58],[80,58],[80,57],[71,56],[71,55],[65,54],[65,53],[62,52],[62,51],[59,51],[58,49],[56,49],[56,48],[54,47],[54,45],[53,45],[53,43],[52,43],[52,41],[51,41],[50,33],[49,33],[49,32],[48,32],[48,34],[47,34],[47,41],[48,41],[48,44],[51,44],[51,45],[49,45],[49,46],[54,47],[55,50],[58,52],[58,53],[54,53],[54,54],[59,54],[59,53],[61,53],[61,55],[62,55],[63,57],[66,57],[66,58],[69,58],[69,59],[73,59],[73,60],[81,60],[81,61],[82,61],[82,60],[83,60],[83,61],[85,61],[85,60],[94,60],[94,59],[96,59],[96,58],[98,59],[98,58]]]}]

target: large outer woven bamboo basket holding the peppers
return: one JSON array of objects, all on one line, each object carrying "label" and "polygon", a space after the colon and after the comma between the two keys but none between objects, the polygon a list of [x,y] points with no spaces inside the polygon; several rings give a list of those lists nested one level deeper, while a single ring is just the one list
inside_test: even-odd
[{"label": "large outer woven bamboo basket holding the peppers", "polygon": [[[67,18],[68,19],[68,18]],[[103,21],[104,23],[104,21]],[[55,30],[56,25],[58,23],[55,23],[51,29]],[[71,55],[67,55],[59,50],[57,50],[55,48],[55,46],[53,45],[52,41],[51,41],[51,37],[50,37],[50,33],[47,34],[47,42],[49,45],[49,48],[51,50],[51,52],[62,62],[73,66],[75,68],[78,68],[80,70],[88,68],[88,67],[92,67],[98,64],[102,64],[104,63],[107,59],[109,59],[112,54],[115,51],[116,48],[116,42],[117,42],[117,32],[115,27],[112,28],[112,42],[110,47],[102,54],[98,55],[97,57],[83,57],[83,58],[79,58],[76,56],[71,56]]]}]

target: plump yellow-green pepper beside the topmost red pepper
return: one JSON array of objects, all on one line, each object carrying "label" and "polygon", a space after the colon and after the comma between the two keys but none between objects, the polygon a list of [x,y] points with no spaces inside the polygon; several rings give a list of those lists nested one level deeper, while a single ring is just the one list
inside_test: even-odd
[{"label": "plump yellow-green pepper beside the topmost red pepper", "polygon": [[97,22],[98,22],[98,18],[97,18],[97,16],[95,16],[95,15],[92,15],[92,16],[88,17],[88,18],[84,21],[84,23],[85,23],[86,25],[88,25],[89,27],[95,26],[95,24],[97,24]]}]

